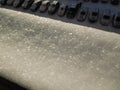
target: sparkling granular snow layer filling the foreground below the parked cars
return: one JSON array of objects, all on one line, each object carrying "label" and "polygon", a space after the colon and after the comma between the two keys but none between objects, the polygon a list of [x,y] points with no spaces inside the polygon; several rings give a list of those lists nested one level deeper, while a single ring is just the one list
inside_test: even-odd
[{"label": "sparkling granular snow layer filling the foreground below the parked cars", "polygon": [[120,90],[120,35],[0,9],[0,73],[31,90]]}]

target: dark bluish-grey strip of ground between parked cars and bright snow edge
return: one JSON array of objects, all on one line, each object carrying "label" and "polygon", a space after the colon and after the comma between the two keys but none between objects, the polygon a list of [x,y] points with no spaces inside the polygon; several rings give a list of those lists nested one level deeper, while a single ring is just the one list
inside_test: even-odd
[{"label": "dark bluish-grey strip of ground between parked cars and bright snow edge", "polygon": [[47,12],[40,13],[39,10],[36,12],[31,12],[30,10],[23,10],[22,8],[13,8],[10,6],[1,6],[0,8],[5,8],[5,9],[17,11],[17,12],[28,13],[28,14],[32,14],[35,16],[50,18],[50,19],[59,20],[59,21],[66,22],[66,23],[72,23],[72,24],[77,24],[81,26],[92,27],[92,28],[96,28],[102,31],[120,34],[119,28],[114,28],[111,24],[109,26],[103,26],[99,22],[96,22],[93,24],[93,23],[88,22],[87,20],[85,22],[78,22],[76,19],[67,19],[66,16],[59,17],[57,15],[48,15]]}]

